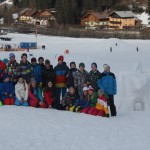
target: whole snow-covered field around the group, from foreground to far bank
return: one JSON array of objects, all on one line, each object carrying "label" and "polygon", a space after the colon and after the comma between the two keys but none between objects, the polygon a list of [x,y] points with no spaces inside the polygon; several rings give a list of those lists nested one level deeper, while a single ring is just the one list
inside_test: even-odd
[{"label": "whole snow-covered field around the group, from foreground to far bank", "polygon": [[[35,35],[8,34],[12,43],[34,42]],[[80,39],[39,35],[46,50],[32,50],[55,66],[64,55],[69,65],[107,63],[116,74],[117,117],[101,118],[52,109],[15,106],[0,107],[0,150],[143,150],[150,148],[150,41],[119,39]],[[0,42],[1,44],[2,42]],[[117,43],[117,47],[116,44]],[[112,52],[110,52],[112,47]],[[137,52],[137,47],[139,52]],[[64,54],[68,49],[70,54]],[[17,60],[23,52],[15,52]],[[8,58],[0,52],[0,59]],[[139,111],[136,111],[139,110]]]}]

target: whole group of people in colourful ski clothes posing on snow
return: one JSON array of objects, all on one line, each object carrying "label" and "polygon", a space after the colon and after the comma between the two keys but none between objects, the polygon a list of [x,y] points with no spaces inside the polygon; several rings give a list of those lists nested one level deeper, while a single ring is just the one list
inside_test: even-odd
[{"label": "whole group of people in colourful ski clothes posing on snow", "polygon": [[29,62],[26,53],[20,63],[14,53],[9,59],[7,64],[0,60],[0,105],[52,107],[102,117],[117,115],[116,78],[109,65],[104,64],[100,73],[95,62],[90,72],[84,63],[77,68],[71,62],[69,68],[62,55],[54,68],[43,57],[33,57]]}]

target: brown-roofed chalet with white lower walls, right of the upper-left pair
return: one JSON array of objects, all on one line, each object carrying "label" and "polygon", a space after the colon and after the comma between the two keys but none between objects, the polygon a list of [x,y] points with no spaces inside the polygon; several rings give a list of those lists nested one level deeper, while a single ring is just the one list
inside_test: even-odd
[{"label": "brown-roofed chalet with white lower walls, right of the upper-left pair", "polygon": [[55,23],[55,13],[50,9],[38,10],[33,14],[33,23],[40,26],[49,26],[50,23]]}]

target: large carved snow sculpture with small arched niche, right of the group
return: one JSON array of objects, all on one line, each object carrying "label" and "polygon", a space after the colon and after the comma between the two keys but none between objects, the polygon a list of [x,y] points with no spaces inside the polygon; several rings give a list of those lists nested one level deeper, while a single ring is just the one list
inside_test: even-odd
[{"label": "large carved snow sculpture with small arched niche, right of the group", "polygon": [[134,64],[133,70],[119,75],[117,105],[122,110],[150,111],[150,73],[142,73],[141,64]]}]

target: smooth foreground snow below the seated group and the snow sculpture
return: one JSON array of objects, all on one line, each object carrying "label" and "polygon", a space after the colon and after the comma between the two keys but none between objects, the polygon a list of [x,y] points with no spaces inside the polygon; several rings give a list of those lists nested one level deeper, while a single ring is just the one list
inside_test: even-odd
[{"label": "smooth foreground snow below the seated group and the snow sculpture", "polygon": [[50,109],[0,108],[2,150],[143,150],[150,148],[149,114],[116,118]]}]

